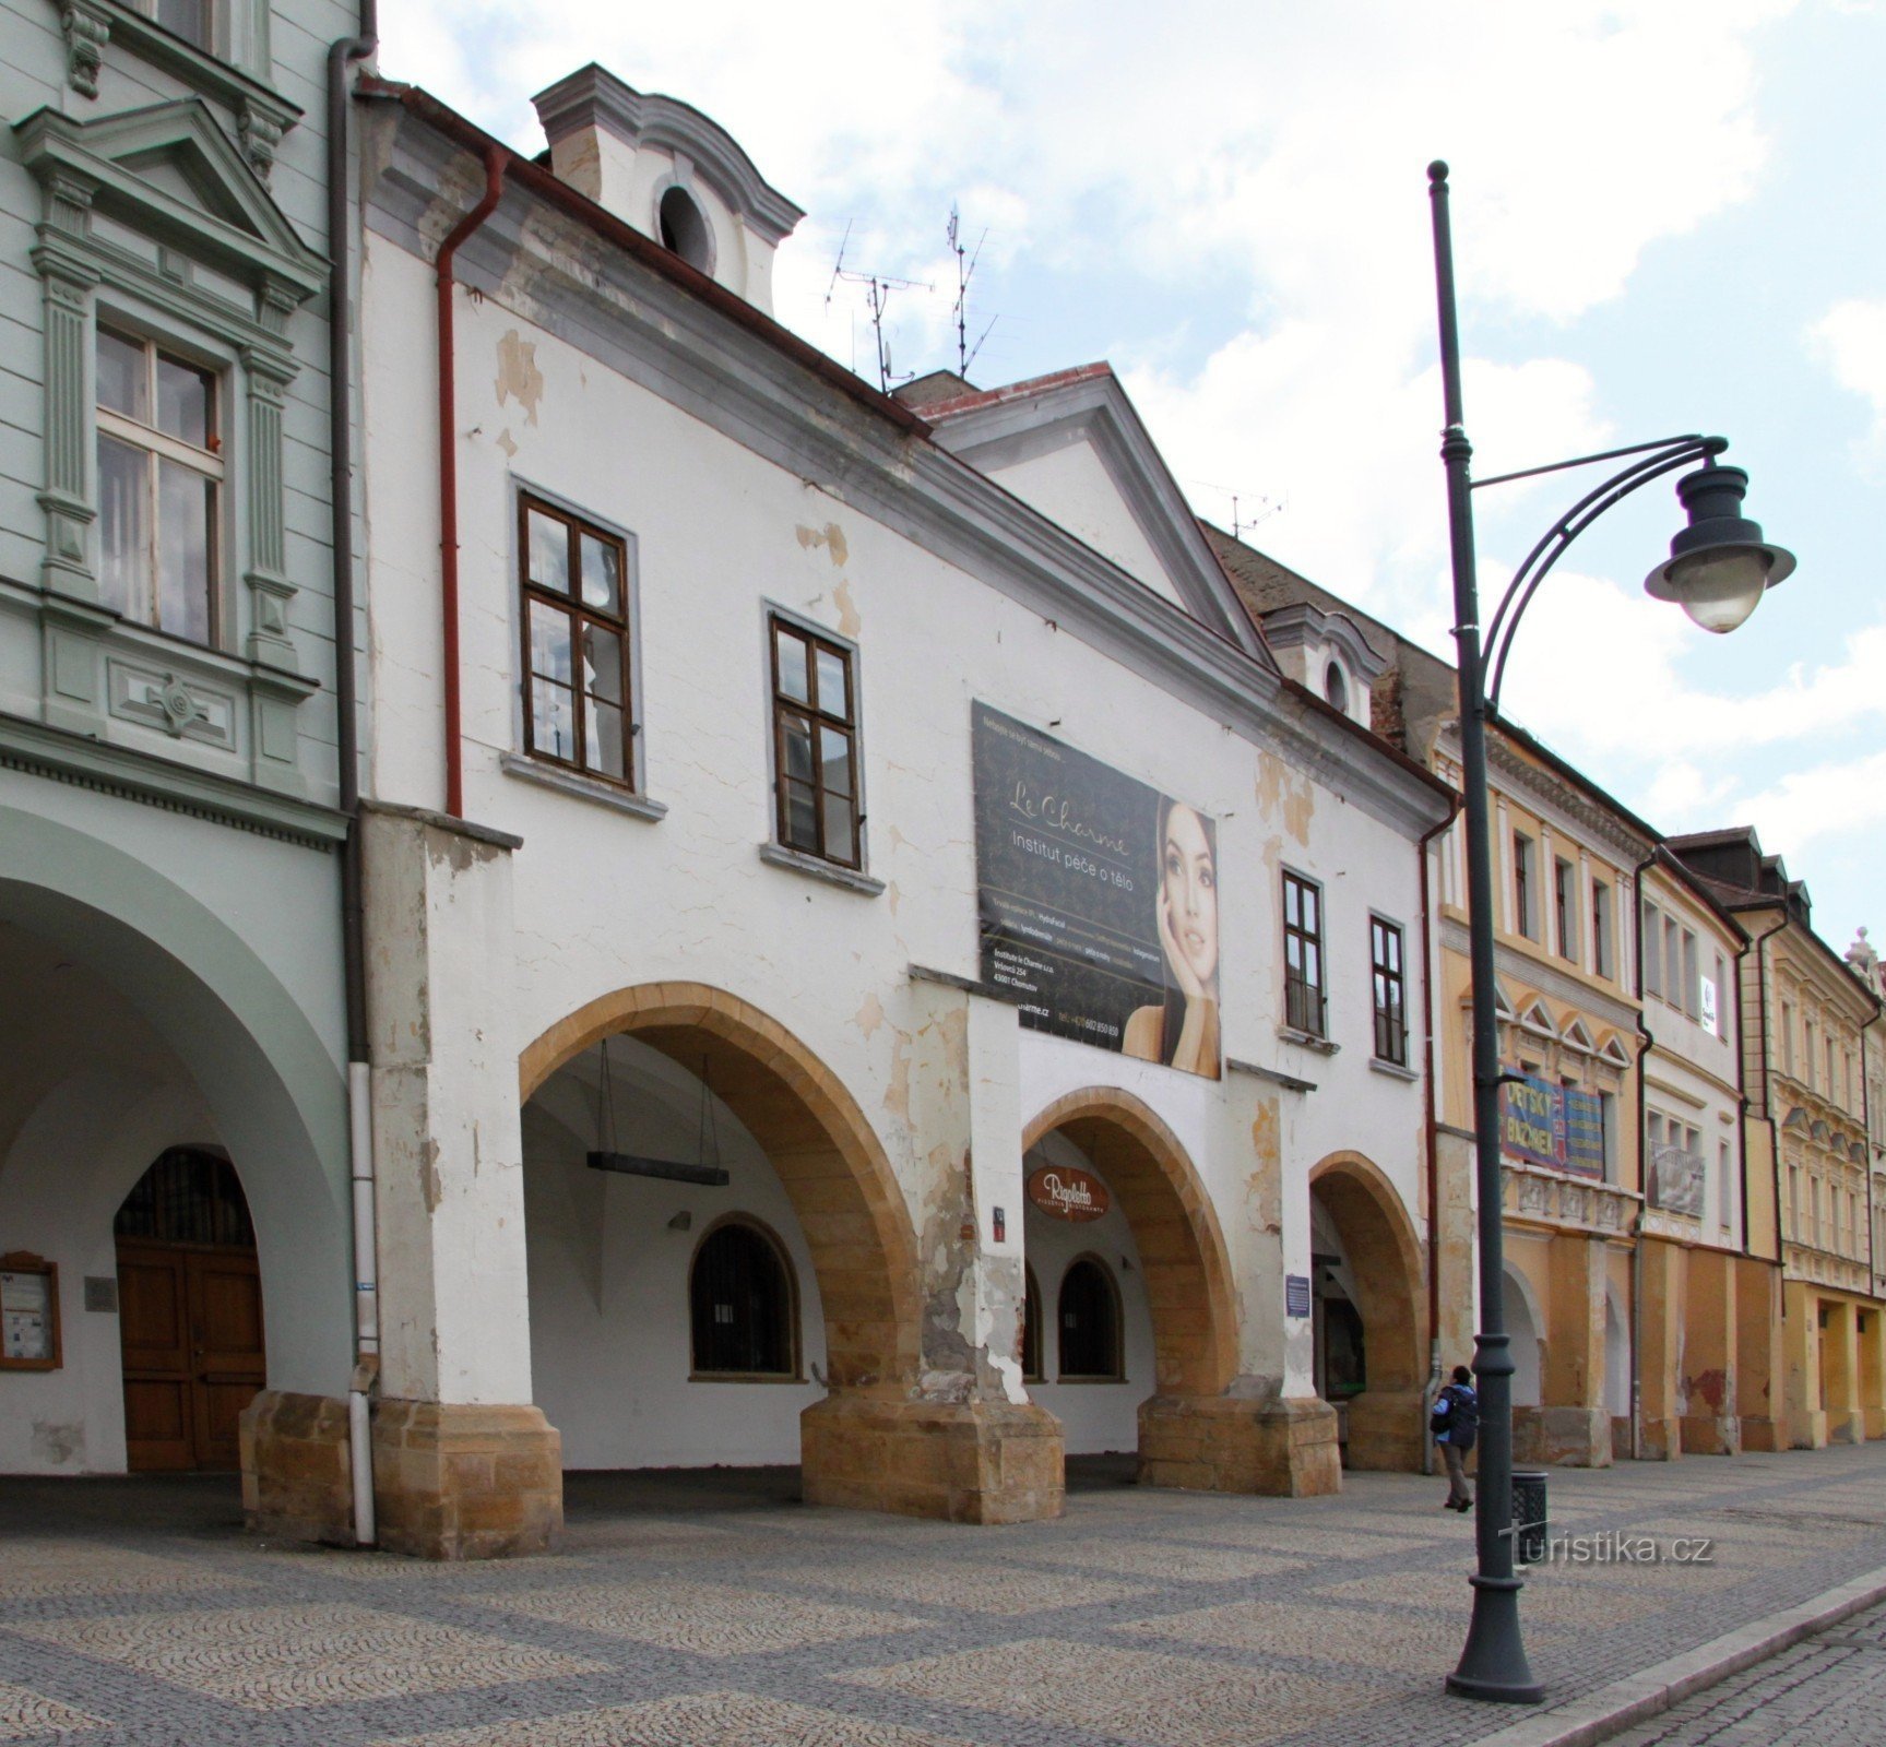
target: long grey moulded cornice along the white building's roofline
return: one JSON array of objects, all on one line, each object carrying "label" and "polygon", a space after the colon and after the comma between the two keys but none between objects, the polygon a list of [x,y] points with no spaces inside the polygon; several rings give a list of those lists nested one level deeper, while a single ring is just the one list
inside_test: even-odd
[{"label": "long grey moulded cornice along the white building's roofline", "polygon": [[[368,228],[430,260],[483,183],[460,147],[381,109]],[[390,138],[389,138],[390,136]],[[1056,628],[1307,768],[1371,817],[1418,832],[1447,802],[1288,700],[1282,677],[918,432],[873,417],[751,332],[547,204],[509,191],[456,257],[462,283],[609,370],[1001,591]]]}]

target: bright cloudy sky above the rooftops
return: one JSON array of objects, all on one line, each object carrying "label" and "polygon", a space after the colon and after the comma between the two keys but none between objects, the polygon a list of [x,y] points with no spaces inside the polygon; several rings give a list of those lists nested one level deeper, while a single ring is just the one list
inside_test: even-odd
[{"label": "bright cloudy sky above the rooftops", "polygon": [[[398,0],[381,66],[519,147],[600,60],[722,123],[807,209],[779,313],[875,374],[1124,377],[1201,515],[1414,638],[1448,626],[1426,164],[1452,164],[1482,475],[1731,440],[1799,557],[1731,638],[1641,592],[1654,485],[1528,615],[1505,707],[1669,832],[1752,823],[1818,932],[1886,934],[1886,0],[1590,6]],[[847,238],[849,232],[849,238]],[[1582,475],[1479,494],[1482,591]],[[1596,483],[1592,475],[1590,483]]]}]

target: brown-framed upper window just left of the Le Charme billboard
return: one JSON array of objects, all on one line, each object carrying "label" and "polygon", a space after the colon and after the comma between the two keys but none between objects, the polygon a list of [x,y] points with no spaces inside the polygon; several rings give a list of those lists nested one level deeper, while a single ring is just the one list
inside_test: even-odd
[{"label": "brown-framed upper window just left of the Le Charme billboard", "polygon": [[858,689],[851,649],[771,613],[773,817],[786,849],[856,868]]}]

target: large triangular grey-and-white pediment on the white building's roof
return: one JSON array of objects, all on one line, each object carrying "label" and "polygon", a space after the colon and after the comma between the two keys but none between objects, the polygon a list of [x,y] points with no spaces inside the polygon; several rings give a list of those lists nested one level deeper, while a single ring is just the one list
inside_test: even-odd
[{"label": "large triangular grey-and-white pediment on the white building's roof", "polygon": [[941,447],[1277,670],[1109,366],[971,391],[918,411]]}]

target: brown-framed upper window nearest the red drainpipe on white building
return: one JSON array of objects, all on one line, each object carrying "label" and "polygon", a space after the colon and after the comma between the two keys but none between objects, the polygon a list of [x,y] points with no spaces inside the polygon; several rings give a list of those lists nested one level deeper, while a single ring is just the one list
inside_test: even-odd
[{"label": "brown-framed upper window nearest the red drainpipe on white building", "polygon": [[628,543],[532,496],[517,524],[524,749],[632,789]]}]

